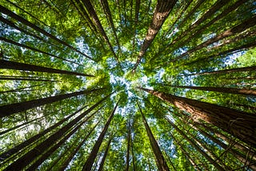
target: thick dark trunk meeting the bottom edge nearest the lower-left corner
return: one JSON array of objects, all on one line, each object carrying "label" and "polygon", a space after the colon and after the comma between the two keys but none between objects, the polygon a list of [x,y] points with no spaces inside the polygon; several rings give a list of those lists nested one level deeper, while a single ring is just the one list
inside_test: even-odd
[{"label": "thick dark trunk meeting the bottom edge nearest the lower-left corner", "polygon": [[92,105],[90,109],[87,109],[85,112],[78,115],[78,117],[75,117],[74,120],[70,121],[67,125],[63,126],[56,133],[53,133],[52,135],[50,135],[50,137],[46,138],[46,140],[42,141],[39,145],[34,147],[34,149],[31,149],[28,153],[18,158],[17,161],[14,161],[11,165],[9,165],[4,170],[7,171],[7,170],[24,169],[26,165],[29,165],[31,161],[34,161],[36,157],[40,156],[43,152],[45,152],[50,145],[53,145],[55,141],[58,141],[63,134],[67,133],[67,131],[72,127],[74,127],[74,125],[76,125],[78,121],[81,121],[84,117],[86,117],[86,114],[90,113],[93,109],[95,109],[98,105],[100,105],[102,101],[110,97],[110,95],[111,94],[109,94],[106,97],[103,97],[102,100]]}]

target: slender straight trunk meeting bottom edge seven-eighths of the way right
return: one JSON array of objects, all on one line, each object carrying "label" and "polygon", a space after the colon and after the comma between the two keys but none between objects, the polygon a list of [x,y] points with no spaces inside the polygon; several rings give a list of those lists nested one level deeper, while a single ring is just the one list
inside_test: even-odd
[{"label": "slender straight trunk meeting bottom edge seven-eighths of the way right", "polygon": [[210,156],[208,156],[208,154],[206,152],[204,152],[192,139],[187,137],[186,134],[183,133],[182,130],[179,129],[177,125],[174,125],[174,123],[172,121],[170,121],[170,119],[168,119],[167,117],[165,117],[165,118],[170,123],[170,125],[172,125],[174,127],[174,129],[177,130],[178,133],[180,133],[180,135],[182,137],[184,137],[186,139],[186,141],[188,141],[190,143],[190,145],[192,145],[194,147],[194,149],[196,149],[199,153],[201,153],[203,157],[206,157],[207,161],[210,161],[210,163],[212,165],[214,165],[214,167],[216,169],[225,171],[225,169],[223,169],[222,166],[218,165],[218,163],[216,161],[214,161],[214,159],[212,159]]}]

